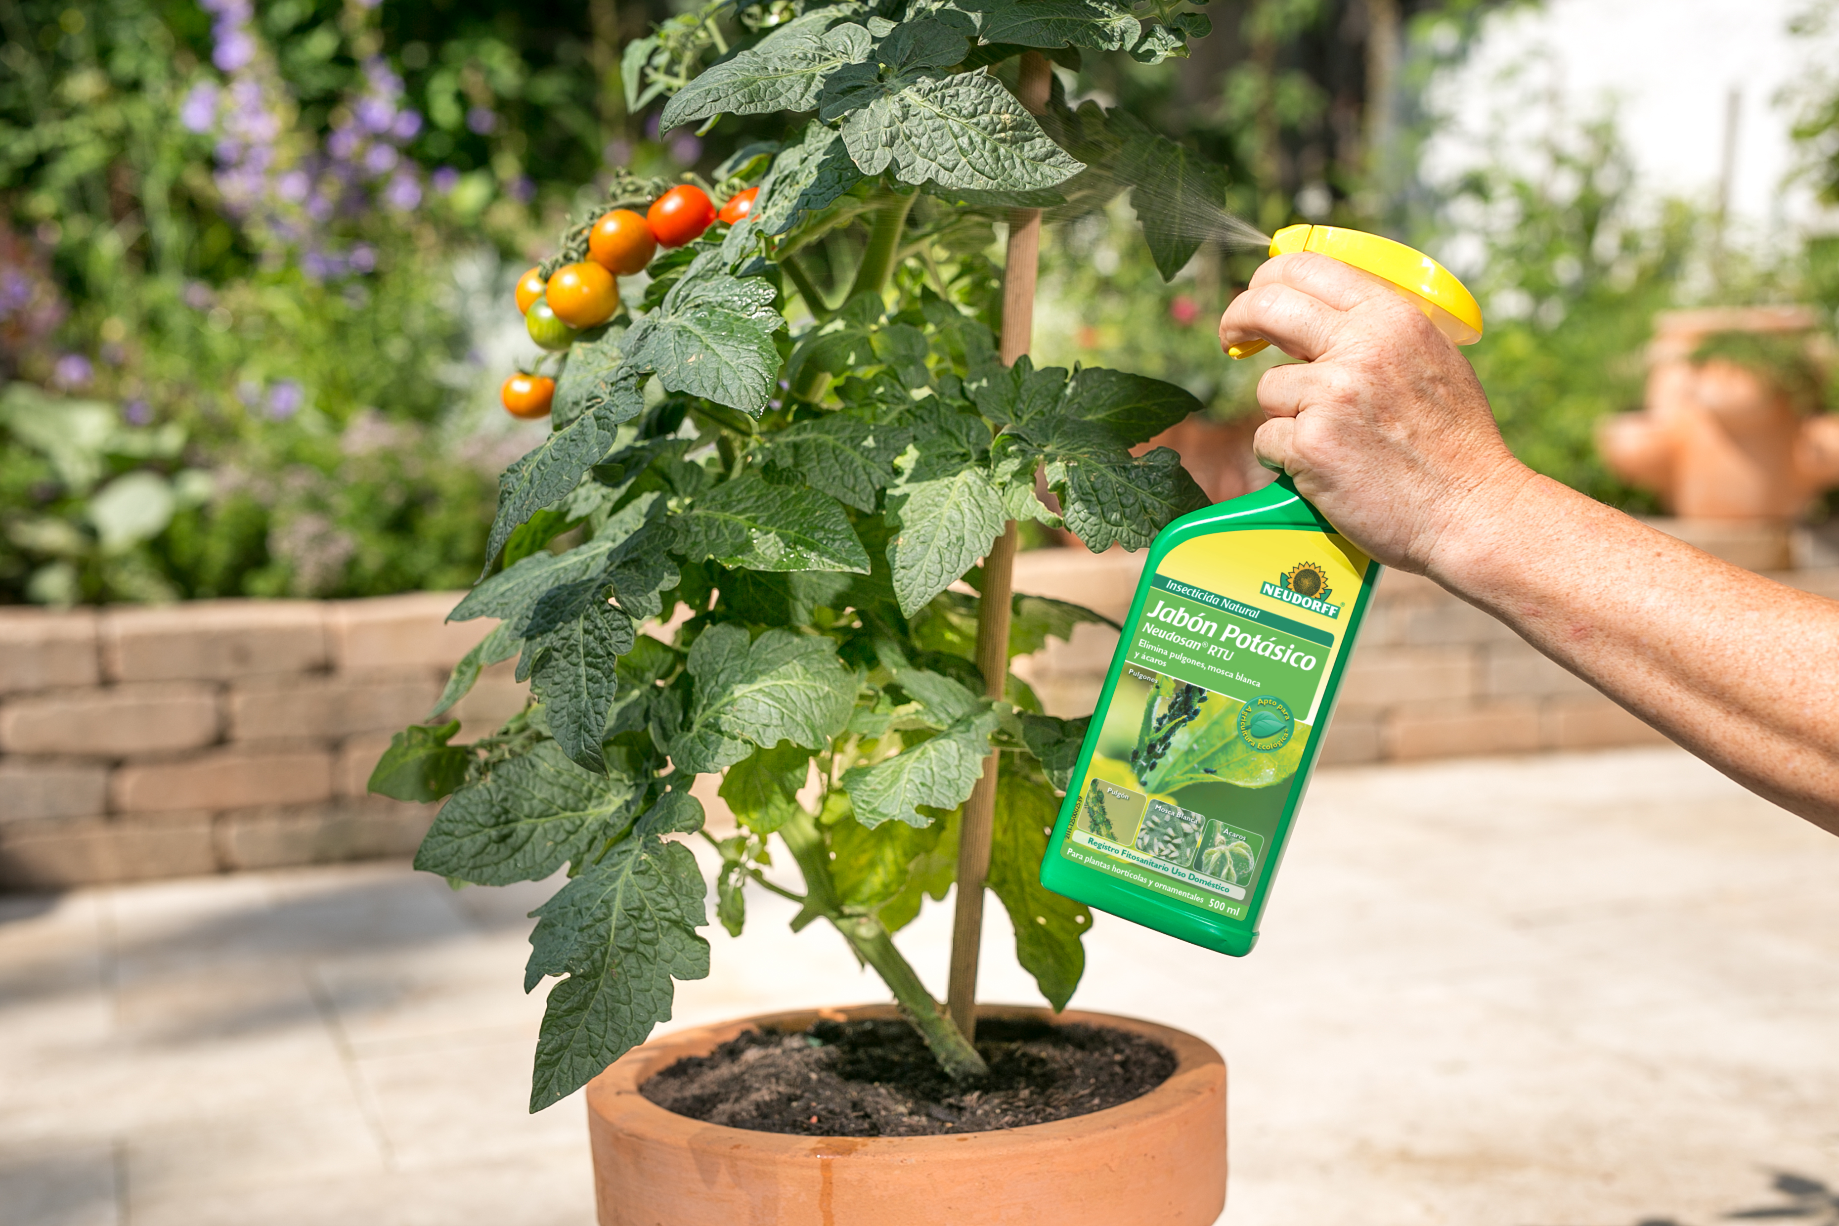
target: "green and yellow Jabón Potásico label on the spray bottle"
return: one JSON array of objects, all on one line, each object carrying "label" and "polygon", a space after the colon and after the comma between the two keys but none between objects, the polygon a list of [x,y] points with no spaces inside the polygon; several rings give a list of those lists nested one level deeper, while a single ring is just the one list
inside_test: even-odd
[{"label": "green and yellow Jab\u00f3n Pot\u00e1sico label on the spray bottle", "polygon": [[[1194,542],[1206,546],[1201,557],[1177,546],[1151,575],[1074,779],[1061,855],[1241,919],[1289,811],[1346,629],[1342,603],[1366,559],[1324,550],[1320,533],[1221,537],[1249,548],[1223,564],[1217,539]],[[1304,548],[1320,561],[1295,557]]]}]

